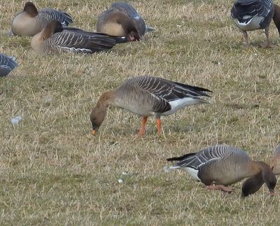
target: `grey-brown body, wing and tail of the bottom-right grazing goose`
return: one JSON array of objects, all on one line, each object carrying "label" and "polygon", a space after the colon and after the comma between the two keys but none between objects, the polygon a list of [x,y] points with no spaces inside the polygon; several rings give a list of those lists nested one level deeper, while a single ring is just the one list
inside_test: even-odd
[{"label": "grey-brown body, wing and tail of the bottom-right grazing goose", "polygon": [[205,185],[212,183],[230,185],[246,177],[250,157],[234,146],[211,146],[198,153],[167,159],[179,160],[171,169],[193,169]]}]

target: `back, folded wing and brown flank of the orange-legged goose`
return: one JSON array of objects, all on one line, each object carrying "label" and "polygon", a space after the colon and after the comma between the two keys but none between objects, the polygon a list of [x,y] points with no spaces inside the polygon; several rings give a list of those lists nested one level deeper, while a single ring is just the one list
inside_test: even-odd
[{"label": "back, folded wing and brown flank of the orange-legged goose", "polygon": [[125,106],[128,111],[141,116],[169,115],[179,110],[172,109],[172,101],[190,99],[192,102],[195,99],[197,102],[203,102],[199,97],[209,97],[206,92],[210,91],[163,78],[139,76],[128,79],[120,86],[116,94],[116,106]]}]

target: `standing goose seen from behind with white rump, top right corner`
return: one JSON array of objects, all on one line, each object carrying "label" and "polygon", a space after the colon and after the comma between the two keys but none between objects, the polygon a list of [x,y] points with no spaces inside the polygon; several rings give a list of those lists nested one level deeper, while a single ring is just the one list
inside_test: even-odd
[{"label": "standing goose seen from behind with white rump, top right corner", "polygon": [[231,10],[232,19],[244,34],[248,46],[247,31],[265,29],[266,42],[262,47],[269,47],[269,24],[274,15],[272,0],[236,0]]}]

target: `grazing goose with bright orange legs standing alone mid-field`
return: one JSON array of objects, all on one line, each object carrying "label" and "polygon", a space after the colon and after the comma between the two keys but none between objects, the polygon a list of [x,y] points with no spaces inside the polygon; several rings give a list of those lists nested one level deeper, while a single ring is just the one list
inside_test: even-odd
[{"label": "grazing goose with bright orange legs standing alone mid-field", "polygon": [[206,92],[211,91],[163,78],[152,76],[129,78],[117,90],[102,94],[97,101],[97,106],[90,114],[92,134],[94,135],[102,125],[109,105],[124,108],[143,117],[139,136],[145,132],[148,116],[155,115],[160,134],[160,116],[170,115],[188,105],[208,103],[200,98],[209,97]]}]

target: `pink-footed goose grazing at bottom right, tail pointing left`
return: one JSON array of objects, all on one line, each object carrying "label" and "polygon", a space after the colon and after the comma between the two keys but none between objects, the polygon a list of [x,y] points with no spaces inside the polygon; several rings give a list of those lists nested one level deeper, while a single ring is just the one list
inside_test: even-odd
[{"label": "pink-footed goose grazing at bottom right, tail pointing left", "polygon": [[[234,146],[211,146],[200,150],[198,153],[189,153],[181,157],[167,159],[167,161],[175,160],[179,162],[169,169],[188,171],[194,179],[207,185],[209,190],[232,192],[232,188],[226,187],[227,185],[258,175],[265,181],[270,194],[274,194],[276,177],[270,167],[265,162],[251,160],[244,150]],[[257,191],[253,186],[253,183],[244,183],[242,194],[244,196],[250,192],[250,194],[253,194],[253,190],[254,192]]]}]

